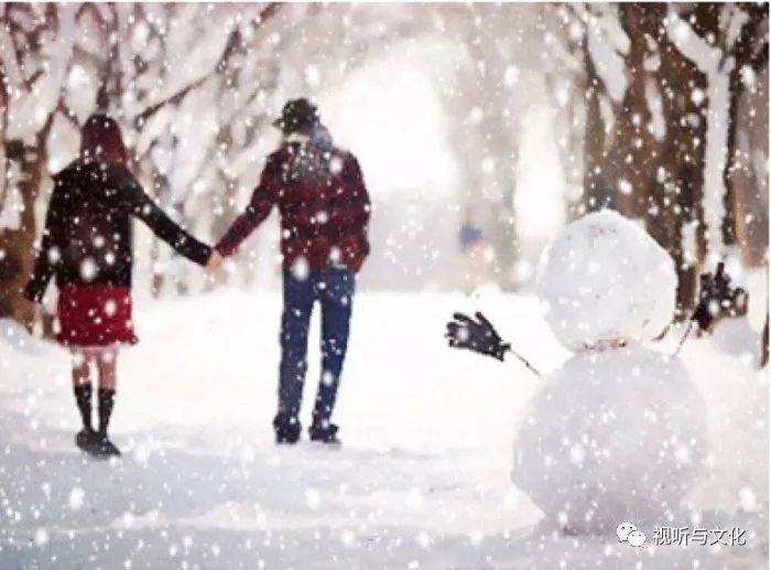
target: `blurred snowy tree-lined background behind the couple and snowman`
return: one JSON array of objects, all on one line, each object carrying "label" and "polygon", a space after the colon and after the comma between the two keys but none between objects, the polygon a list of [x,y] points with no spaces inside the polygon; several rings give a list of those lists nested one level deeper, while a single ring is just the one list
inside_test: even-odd
[{"label": "blurred snowy tree-lined background behind the couple and snowman", "polygon": [[[365,290],[528,291],[550,237],[601,207],[670,251],[681,318],[717,260],[765,289],[767,4],[7,3],[0,22],[0,316],[33,319],[19,290],[88,115],[213,241],[297,96],[360,159]],[[211,280],[138,228],[135,294],[276,290],[278,233],[274,214]]]}]

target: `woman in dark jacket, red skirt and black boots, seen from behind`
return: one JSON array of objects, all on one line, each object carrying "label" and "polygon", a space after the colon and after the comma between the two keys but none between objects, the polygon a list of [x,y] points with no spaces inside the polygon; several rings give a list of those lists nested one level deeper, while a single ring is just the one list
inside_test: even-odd
[{"label": "woman in dark jacket, red skirt and black boots, seen from behind", "polygon": [[[75,399],[83,418],[76,443],[97,455],[119,455],[107,427],[116,397],[118,347],[137,342],[131,314],[131,217],[202,266],[209,261],[211,248],[177,226],[144,193],[127,169],[127,150],[115,120],[94,115],[82,137],[78,159],[54,176],[41,248],[24,294],[40,302],[55,277],[59,290],[56,340],[72,349]],[[96,429],[91,367],[99,376]]]}]

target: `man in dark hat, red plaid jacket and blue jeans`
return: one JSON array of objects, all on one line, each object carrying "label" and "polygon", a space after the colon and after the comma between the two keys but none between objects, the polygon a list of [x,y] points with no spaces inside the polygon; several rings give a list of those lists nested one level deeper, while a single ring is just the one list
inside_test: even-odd
[{"label": "man in dark hat, red plaid jacket and blue jeans", "polygon": [[283,315],[276,442],[300,439],[298,420],[307,368],[307,332],[322,306],[322,379],[308,430],[314,441],[339,443],[330,422],[348,344],[356,273],[369,254],[370,201],[356,157],[333,144],[318,111],[290,100],[274,125],[284,138],[265,163],[246,211],[216,246],[227,257],[268,217],[281,215]]}]

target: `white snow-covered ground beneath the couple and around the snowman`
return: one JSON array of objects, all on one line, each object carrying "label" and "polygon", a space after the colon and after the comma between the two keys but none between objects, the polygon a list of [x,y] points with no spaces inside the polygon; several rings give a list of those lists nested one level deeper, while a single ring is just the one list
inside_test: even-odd
[{"label": "white snow-covered ground beneath the couple and around the snowman", "polygon": [[716,451],[691,497],[702,518],[661,521],[740,526],[746,546],[652,546],[652,529],[643,548],[539,537],[540,513],[510,480],[539,380],[446,347],[445,321],[471,309],[537,368],[568,357],[532,298],[360,294],[336,412],[345,445],[328,450],[272,442],[278,295],[139,306],[142,342],[119,363],[112,431],[124,456],[113,463],[74,448],[66,352],[0,322],[0,568],[767,567],[764,373],[710,341],[686,344]]}]

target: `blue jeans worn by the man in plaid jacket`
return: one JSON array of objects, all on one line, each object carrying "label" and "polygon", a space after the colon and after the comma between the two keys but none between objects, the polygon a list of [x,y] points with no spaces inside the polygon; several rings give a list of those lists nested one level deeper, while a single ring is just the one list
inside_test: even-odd
[{"label": "blue jeans worn by the man in plaid jacket", "polygon": [[313,305],[322,305],[322,378],[313,422],[329,423],[348,346],[356,275],[350,269],[329,267],[312,270],[305,279],[284,271],[284,312],[281,318],[281,366],[279,413],[296,419],[307,370],[308,326]]}]

